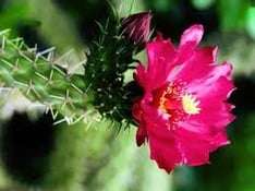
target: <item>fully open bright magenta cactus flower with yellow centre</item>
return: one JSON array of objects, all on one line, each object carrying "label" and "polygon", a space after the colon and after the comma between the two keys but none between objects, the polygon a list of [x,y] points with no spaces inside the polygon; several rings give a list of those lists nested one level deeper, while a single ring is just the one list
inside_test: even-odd
[{"label": "fully open bright magenta cactus flower with yellow centre", "polygon": [[230,63],[216,63],[217,48],[196,46],[202,25],[193,25],[174,48],[159,34],[147,43],[147,68],[138,64],[135,81],[144,89],[133,105],[136,143],[146,141],[150,158],[170,172],[175,166],[209,163],[209,153],[229,144],[226,126],[234,116],[226,100],[234,89]]}]

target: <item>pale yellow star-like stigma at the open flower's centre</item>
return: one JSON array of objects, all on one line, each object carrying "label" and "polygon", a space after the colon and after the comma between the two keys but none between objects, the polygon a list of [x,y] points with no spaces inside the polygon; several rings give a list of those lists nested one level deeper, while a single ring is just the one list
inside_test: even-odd
[{"label": "pale yellow star-like stigma at the open flower's centre", "polygon": [[201,111],[198,107],[199,102],[191,94],[185,94],[182,96],[182,107],[184,111],[189,115],[197,115]]}]

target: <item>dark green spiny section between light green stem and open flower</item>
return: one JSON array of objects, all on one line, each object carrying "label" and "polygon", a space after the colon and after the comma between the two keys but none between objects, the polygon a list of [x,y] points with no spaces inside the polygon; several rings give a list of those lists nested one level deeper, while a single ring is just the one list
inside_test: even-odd
[{"label": "dark green spiny section between light green stem and open flower", "polygon": [[121,124],[132,121],[130,89],[124,72],[132,69],[137,46],[126,39],[118,21],[100,24],[101,36],[94,41],[85,64],[85,81],[92,83],[93,105],[99,112]]}]

